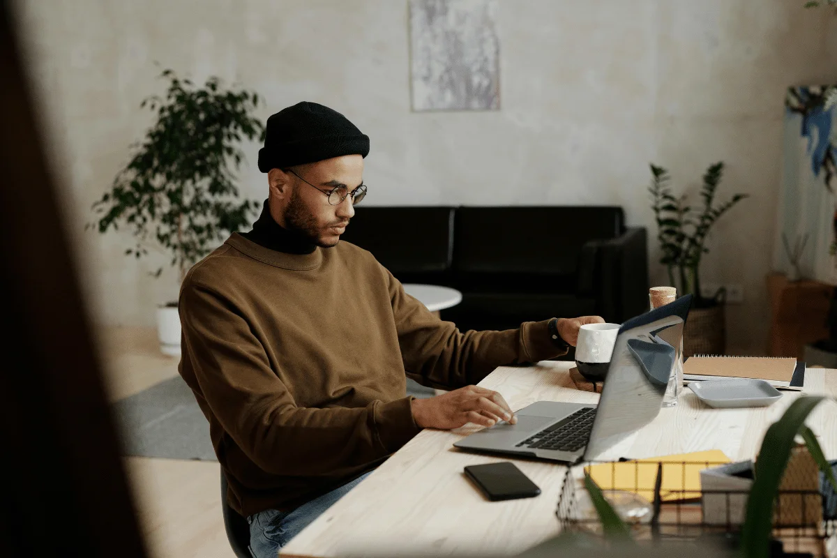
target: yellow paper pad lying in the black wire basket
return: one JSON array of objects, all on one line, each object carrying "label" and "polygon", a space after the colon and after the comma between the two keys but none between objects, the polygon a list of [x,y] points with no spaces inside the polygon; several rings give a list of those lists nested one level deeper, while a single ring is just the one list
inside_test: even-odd
[{"label": "yellow paper pad lying in the black wire basket", "polygon": [[584,468],[584,471],[602,490],[635,492],[653,501],[657,463],[660,462],[663,463],[660,497],[663,501],[673,501],[700,498],[701,471],[707,467],[730,463],[730,458],[720,449],[712,449],[636,461],[599,463]]}]

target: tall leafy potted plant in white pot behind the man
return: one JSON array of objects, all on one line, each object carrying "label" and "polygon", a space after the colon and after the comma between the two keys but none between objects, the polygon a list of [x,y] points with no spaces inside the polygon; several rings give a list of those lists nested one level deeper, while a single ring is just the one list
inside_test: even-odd
[{"label": "tall leafy potted plant in white pot behind the man", "polygon": [[[259,202],[239,200],[234,171],[244,158],[240,141],[264,141],[264,125],[251,115],[259,104],[254,92],[223,90],[215,77],[195,87],[171,69],[161,77],[168,81],[165,97],[140,105],[157,120],[93,204],[96,221],[87,227],[106,233],[125,225],[136,239],[126,255],[139,259],[157,248],[171,257],[182,282],[187,269],[258,211]],[[161,273],[162,267],[151,275]],[[157,333],[163,352],[180,354],[176,300],[157,307]]]}]

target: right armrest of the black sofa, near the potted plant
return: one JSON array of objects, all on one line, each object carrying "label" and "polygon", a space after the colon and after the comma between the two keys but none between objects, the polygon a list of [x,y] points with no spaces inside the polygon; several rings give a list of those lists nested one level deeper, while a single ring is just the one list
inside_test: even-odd
[{"label": "right armrest of the black sofa, near the potted plant", "polygon": [[621,323],[648,310],[648,244],[644,227],[586,243],[579,255],[578,293],[593,295],[605,320]]}]

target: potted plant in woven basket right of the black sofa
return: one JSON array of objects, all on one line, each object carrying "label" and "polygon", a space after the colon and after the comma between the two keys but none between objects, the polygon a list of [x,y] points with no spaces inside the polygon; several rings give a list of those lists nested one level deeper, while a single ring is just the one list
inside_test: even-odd
[{"label": "potted plant in woven basket right of the black sofa", "polygon": [[665,265],[670,286],[680,294],[692,294],[694,302],[683,335],[685,356],[696,353],[723,354],[724,299],[726,292],[719,289],[711,297],[701,294],[701,261],[709,252],[706,238],[721,216],[732,209],[747,194],[736,194],[727,202],[715,203],[715,195],[723,174],[723,162],[710,165],[703,175],[701,203],[688,204],[686,194],[676,197],[669,187],[670,176],[661,166],[651,165],[652,205],[657,221],[660,242],[660,264]]}]

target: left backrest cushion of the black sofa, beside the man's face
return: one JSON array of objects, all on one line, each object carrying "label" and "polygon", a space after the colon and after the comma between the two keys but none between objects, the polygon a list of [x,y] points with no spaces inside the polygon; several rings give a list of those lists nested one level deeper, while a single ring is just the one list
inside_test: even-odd
[{"label": "left backrest cushion of the black sofa, beside the man's face", "polygon": [[454,207],[356,207],[341,240],[372,252],[396,277],[414,282],[447,272]]}]

